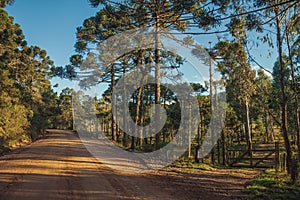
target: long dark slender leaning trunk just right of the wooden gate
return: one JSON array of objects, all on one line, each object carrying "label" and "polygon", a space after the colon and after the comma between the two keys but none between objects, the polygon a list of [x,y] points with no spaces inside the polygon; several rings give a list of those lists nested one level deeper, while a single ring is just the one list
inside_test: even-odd
[{"label": "long dark slender leaning trunk just right of the wooden gate", "polygon": [[282,57],[282,39],[280,33],[280,19],[279,19],[279,8],[275,7],[276,14],[276,29],[277,29],[277,45],[279,54],[279,65],[280,65],[280,89],[281,89],[281,131],[284,139],[286,149],[286,164],[287,171],[291,174],[292,171],[292,149],[288,136],[288,121],[287,121],[287,96],[285,90],[285,69]]}]

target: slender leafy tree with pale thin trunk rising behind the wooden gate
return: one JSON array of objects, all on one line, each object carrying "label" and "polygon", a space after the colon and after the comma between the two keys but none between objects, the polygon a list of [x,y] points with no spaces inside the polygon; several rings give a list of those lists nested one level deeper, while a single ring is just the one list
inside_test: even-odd
[{"label": "slender leafy tree with pale thin trunk rising behind the wooden gate", "polygon": [[[237,109],[245,127],[247,146],[251,156],[252,136],[250,132],[250,103],[255,93],[255,71],[247,61],[245,47],[240,42],[220,41],[215,46],[216,55],[221,59],[218,69],[226,82],[230,104]],[[242,111],[242,112],[239,112]]]}]

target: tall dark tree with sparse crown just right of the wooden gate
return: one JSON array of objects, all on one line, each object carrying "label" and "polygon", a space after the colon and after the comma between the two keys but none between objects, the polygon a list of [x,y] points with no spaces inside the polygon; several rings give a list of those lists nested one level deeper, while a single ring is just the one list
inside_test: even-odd
[{"label": "tall dark tree with sparse crown just right of the wooden gate", "polygon": [[[292,171],[292,148],[291,142],[289,138],[289,126],[288,126],[288,88],[289,81],[286,81],[286,73],[287,73],[287,63],[291,64],[291,68],[293,69],[293,60],[294,56],[291,53],[290,45],[293,43],[291,39],[296,39],[297,37],[293,37],[293,30],[297,29],[297,21],[299,20],[299,1],[297,0],[276,0],[276,1],[262,1],[256,0],[255,5],[257,8],[264,8],[264,12],[260,12],[259,15],[260,22],[258,23],[261,28],[264,30],[271,29],[271,33],[274,33],[274,37],[265,35],[265,41],[269,41],[269,44],[273,46],[273,41],[276,41],[276,47],[278,52],[278,62],[276,65],[279,67],[279,88],[281,95],[281,131],[282,136],[284,138],[285,149],[287,153],[287,169],[288,173]],[[287,43],[288,52],[284,52],[285,41]],[[284,56],[289,55],[289,61],[285,61]],[[292,70],[294,71],[294,70]],[[292,75],[292,79],[294,76]],[[294,84],[293,84],[294,85]],[[295,87],[293,87],[295,89]],[[297,101],[297,99],[296,99]],[[296,112],[298,113],[297,109]],[[296,117],[297,114],[296,113]],[[298,124],[299,130],[299,119],[296,119],[296,124]],[[299,132],[297,133],[299,138]],[[299,140],[298,140],[299,141]],[[300,147],[300,143],[298,142],[298,150]],[[300,157],[299,157],[300,158]]]}]

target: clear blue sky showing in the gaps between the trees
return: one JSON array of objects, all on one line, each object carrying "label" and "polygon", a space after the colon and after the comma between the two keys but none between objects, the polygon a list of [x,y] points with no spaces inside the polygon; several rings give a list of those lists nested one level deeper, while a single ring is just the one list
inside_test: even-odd
[{"label": "clear blue sky showing in the gaps between the trees", "polygon": [[[69,64],[69,57],[75,53],[76,28],[84,19],[95,15],[98,9],[92,8],[88,0],[15,0],[12,6],[6,7],[15,22],[21,25],[28,44],[45,49],[56,66]],[[214,44],[217,35],[200,35],[195,39],[200,45],[208,47],[208,41]],[[261,44],[252,53],[260,64],[271,69],[275,56],[268,58],[267,51],[268,47]],[[52,83],[59,83],[56,91],[73,87],[69,81],[58,78],[54,78]]]}]

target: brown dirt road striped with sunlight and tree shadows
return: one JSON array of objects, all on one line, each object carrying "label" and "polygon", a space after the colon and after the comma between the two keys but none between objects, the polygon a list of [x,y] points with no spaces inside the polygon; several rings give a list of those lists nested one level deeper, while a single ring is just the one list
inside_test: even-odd
[{"label": "brown dirt road striped with sunlight and tree shadows", "polygon": [[0,157],[0,199],[248,199],[257,171],[180,170],[125,174],[93,158],[72,133],[52,131]]}]

